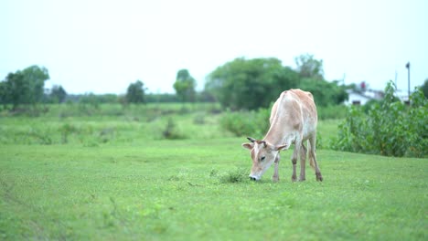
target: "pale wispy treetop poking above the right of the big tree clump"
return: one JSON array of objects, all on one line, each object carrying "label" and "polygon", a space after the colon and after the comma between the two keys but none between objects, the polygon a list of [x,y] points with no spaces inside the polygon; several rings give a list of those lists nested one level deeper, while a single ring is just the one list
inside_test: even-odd
[{"label": "pale wispy treetop poking above the right of the big tree clump", "polygon": [[323,60],[305,54],[294,58],[294,61],[301,78],[324,79]]}]

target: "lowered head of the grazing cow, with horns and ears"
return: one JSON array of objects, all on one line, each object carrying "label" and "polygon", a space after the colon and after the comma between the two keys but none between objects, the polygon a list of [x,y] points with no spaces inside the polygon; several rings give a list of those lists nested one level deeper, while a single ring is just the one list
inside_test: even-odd
[{"label": "lowered head of the grazing cow, with horns and ears", "polygon": [[288,145],[274,146],[267,141],[258,141],[247,137],[250,143],[242,143],[242,147],[251,151],[252,167],[250,179],[253,181],[260,180],[262,174],[279,158],[278,153],[288,149]]}]

